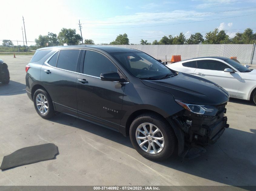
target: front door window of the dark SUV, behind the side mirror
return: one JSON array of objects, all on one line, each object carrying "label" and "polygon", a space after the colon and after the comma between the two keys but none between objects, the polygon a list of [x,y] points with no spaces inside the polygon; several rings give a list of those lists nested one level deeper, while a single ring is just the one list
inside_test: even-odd
[{"label": "front door window of the dark SUV, behind the side mirror", "polygon": [[100,77],[105,72],[117,72],[117,68],[106,56],[86,50],[83,73]]}]

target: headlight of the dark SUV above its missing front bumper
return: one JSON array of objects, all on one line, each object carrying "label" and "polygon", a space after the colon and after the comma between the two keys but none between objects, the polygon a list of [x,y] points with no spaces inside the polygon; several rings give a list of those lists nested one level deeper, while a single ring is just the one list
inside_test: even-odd
[{"label": "headlight of the dark SUV above its missing front bumper", "polygon": [[184,109],[191,111],[193,113],[201,114],[201,115],[209,115],[215,116],[218,112],[218,109],[211,105],[194,105],[190,103],[184,103],[180,100],[175,100],[181,107]]}]

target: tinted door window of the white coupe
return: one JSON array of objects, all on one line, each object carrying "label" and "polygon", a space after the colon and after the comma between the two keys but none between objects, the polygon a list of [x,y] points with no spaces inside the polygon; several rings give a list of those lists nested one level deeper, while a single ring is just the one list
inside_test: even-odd
[{"label": "tinted door window of the white coupe", "polygon": [[206,70],[224,71],[225,68],[230,68],[230,67],[217,60],[198,60],[197,68],[206,69]]}]

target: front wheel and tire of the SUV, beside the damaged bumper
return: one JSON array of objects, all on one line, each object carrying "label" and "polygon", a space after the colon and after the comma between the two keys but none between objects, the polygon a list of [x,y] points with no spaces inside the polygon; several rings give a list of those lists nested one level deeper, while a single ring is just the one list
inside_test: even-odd
[{"label": "front wheel and tire of the SUV, beside the damaged bumper", "polygon": [[176,147],[176,136],[171,126],[161,117],[150,113],[134,119],[130,139],[136,151],[152,161],[169,158]]}]

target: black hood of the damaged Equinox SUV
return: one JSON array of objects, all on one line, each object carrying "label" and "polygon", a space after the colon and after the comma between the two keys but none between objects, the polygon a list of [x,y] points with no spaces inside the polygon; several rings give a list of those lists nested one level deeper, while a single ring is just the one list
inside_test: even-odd
[{"label": "black hood of the damaged Equinox SUV", "polygon": [[214,82],[181,72],[172,78],[141,81],[146,86],[168,92],[175,99],[186,103],[220,105],[229,99],[228,92]]}]

